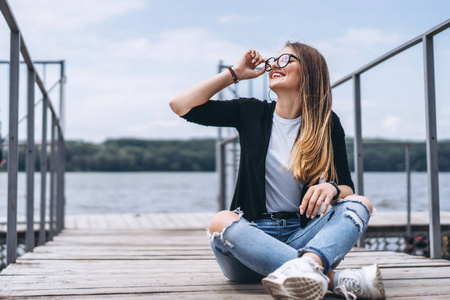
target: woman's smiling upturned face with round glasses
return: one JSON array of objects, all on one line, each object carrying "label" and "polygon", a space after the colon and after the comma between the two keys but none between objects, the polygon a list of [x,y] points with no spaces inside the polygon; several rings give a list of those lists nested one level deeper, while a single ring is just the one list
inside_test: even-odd
[{"label": "woman's smiling upturned face with round glasses", "polygon": [[[278,57],[285,53],[294,54],[291,48],[286,47],[278,53]],[[292,57],[290,63],[285,68],[279,68],[276,62],[273,63],[272,70],[269,72],[270,89],[277,94],[282,91],[298,93],[301,82],[299,64],[300,62]]]}]

